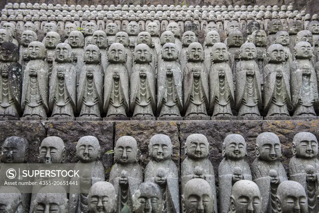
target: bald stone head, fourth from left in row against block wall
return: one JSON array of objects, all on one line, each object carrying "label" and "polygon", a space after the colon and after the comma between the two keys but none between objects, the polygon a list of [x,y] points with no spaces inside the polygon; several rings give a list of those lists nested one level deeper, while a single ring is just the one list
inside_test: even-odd
[{"label": "bald stone head, fourth from left in row against block wall", "polygon": [[131,164],[137,162],[137,151],[136,140],[131,136],[122,136],[116,142],[114,156],[120,164]]}]

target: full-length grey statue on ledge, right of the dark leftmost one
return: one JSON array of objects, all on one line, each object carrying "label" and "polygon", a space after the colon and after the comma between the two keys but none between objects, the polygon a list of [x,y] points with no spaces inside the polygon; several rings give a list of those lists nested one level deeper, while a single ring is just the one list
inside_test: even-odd
[{"label": "full-length grey statue on ledge, right of the dark leftmost one", "polygon": [[49,67],[43,43],[33,41],[28,46],[28,58],[22,84],[22,121],[47,120],[49,112]]}]

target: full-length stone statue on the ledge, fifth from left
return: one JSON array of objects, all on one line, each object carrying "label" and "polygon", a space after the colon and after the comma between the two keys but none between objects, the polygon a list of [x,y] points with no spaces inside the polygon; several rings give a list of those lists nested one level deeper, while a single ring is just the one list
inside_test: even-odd
[{"label": "full-length stone statue on the ledge, fifth from left", "polygon": [[129,73],[125,66],[125,47],[120,43],[112,44],[107,57],[109,65],[104,77],[104,112],[107,113],[105,120],[129,120],[126,114],[130,110],[130,88]]}]

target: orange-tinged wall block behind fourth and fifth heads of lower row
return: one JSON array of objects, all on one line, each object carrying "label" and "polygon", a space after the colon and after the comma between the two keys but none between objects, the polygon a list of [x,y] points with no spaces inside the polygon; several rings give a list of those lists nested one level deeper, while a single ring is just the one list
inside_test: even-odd
[{"label": "orange-tinged wall block behind fourth and fifth heads of lower row", "polygon": [[[170,137],[173,144],[172,160],[180,173],[180,142],[177,123],[174,121],[117,121],[115,123],[115,141],[121,136],[132,136],[137,141],[140,153],[140,165],[145,168],[151,160],[148,153],[148,143],[152,136],[164,134]],[[191,134],[191,133],[190,133]],[[186,138],[185,138],[186,139]]]}]

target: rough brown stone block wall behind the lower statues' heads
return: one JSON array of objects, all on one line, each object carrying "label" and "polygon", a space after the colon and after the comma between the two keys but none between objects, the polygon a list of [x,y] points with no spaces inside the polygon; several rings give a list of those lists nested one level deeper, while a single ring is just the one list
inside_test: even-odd
[{"label": "rough brown stone block wall behind the lower statues' heads", "polygon": [[[9,136],[25,137],[29,141],[29,163],[37,163],[39,146],[47,136],[61,137],[65,143],[66,163],[78,162],[75,146],[82,136],[92,135],[99,139],[101,156],[105,171],[114,164],[113,150],[116,140],[121,136],[133,136],[137,140],[140,165],[145,168],[150,161],[148,142],[153,135],[168,135],[173,143],[173,156],[179,172],[185,159],[184,144],[187,136],[200,133],[210,143],[209,159],[214,165],[216,180],[218,166],[222,160],[222,143],[229,134],[241,134],[247,143],[249,165],[255,160],[256,137],[262,132],[278,135],[282,144],[281,161],[288,173],[292,157],[291,143],[298,132],[308,131],[319,138],[319,120],[287,121],[0,121],[0,144]],[[108,173],[106,174],[108,179]]]}]

